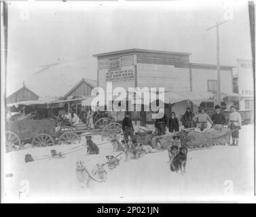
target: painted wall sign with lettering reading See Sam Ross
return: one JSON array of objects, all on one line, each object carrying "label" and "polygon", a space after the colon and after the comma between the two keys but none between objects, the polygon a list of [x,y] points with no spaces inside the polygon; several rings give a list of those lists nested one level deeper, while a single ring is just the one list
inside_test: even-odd
[{"label": "painted wall sign with lettering reading See Sam Ross", "polygon": [[120,71],[111,71],[106,74],[107,82],[126,82],[134,81],[134,71],[129,70],[120,70]]}]

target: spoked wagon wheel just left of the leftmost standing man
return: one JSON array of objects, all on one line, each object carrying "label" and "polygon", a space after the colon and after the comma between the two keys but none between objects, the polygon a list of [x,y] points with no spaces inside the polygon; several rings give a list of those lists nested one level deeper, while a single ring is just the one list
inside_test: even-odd
[{"label": "spoked wagon wheel just left of the leftmost standing man", "polygon": [[101,134],[101,140],[113,140],[113,138],[122,138],[122,125],[120,123],[111,122],[104,127]]}]

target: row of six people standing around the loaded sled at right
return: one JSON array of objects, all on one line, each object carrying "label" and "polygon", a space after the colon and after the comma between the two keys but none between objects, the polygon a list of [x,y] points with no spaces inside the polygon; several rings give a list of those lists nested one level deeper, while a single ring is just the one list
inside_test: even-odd
[{"label": "row of six people standing around the loaded sled at right", "polygon": [[[230,118],[227,123],[225,115],[221,113],[221,107],[219,105],[215,106],[215,113],[212,117],[206,113],[206,109],[201,108],[198,115],[194,115],[190,108],[181,118],[181,122],[185,128],[198,127],[201,131],[207,128],[207,123],[211,125],[228,125],[230,130],[232,130],[232,145],[238,145],[239,131],[242,125],[242,118],[240,113],[238,113],[234,106],[230,107],[232,113],[230,113]],[[169,132],[179,132],[179,120],[174,112],[171,113],[170,119],[167,115],[161,119],[156,119],[155,123],[158,136],[166,134],[166,127],[168,127]]]}]

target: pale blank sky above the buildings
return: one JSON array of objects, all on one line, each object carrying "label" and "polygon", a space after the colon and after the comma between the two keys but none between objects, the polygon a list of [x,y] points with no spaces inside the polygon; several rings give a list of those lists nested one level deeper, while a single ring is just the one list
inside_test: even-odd
[{"label": "pale blank sky above the buildings", "polygon": [[7,96],[23,81],[39,96],[64,95],[68,83],[96,80],[93,54],[115,50],[188,52],[190,62],[216,64],[215,28],[206,28],[218,18],[231,18],[219,28],[221,64],[251,59],[246,1],[11,1],[8,10]]}]

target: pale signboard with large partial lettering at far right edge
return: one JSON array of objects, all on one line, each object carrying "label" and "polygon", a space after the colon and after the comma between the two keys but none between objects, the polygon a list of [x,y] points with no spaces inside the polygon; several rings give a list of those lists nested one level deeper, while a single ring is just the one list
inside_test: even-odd
[{"label": "pale signboard with large partial lettering at far right edge", "polygon": [[240,96],[253,97],[253,64],[251,60],[238,60],[238,91]]}]

